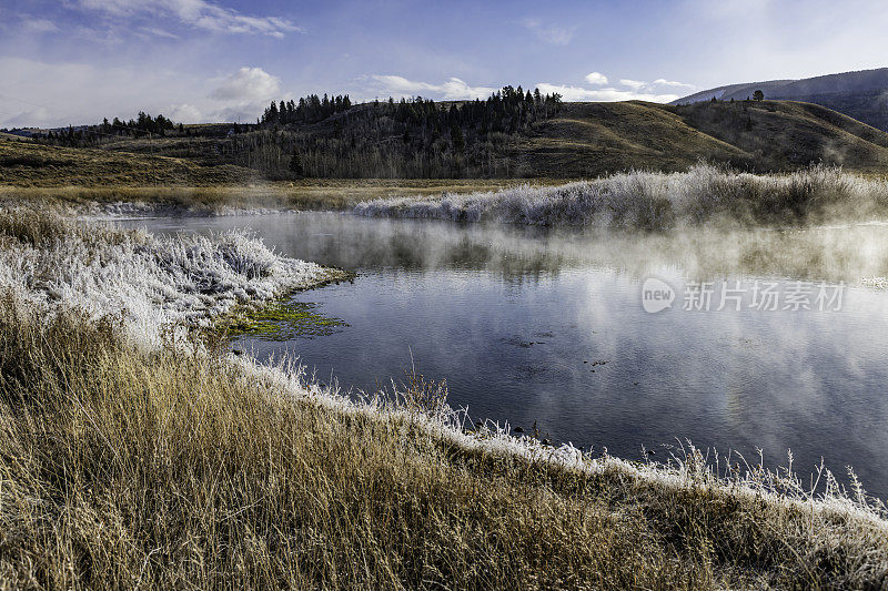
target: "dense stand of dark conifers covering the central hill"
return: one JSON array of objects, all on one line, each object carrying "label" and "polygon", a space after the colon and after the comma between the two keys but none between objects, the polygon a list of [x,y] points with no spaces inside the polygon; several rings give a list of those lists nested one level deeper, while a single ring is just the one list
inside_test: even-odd
[{"label": "dense stand of dark conifers covering the central hill", "polygon": [[[558,94],[511,85],[486,100],[390,98],[339,106],[346,100],[272,103],[259,131],[232,140],[234,163],[272,179],[521,176],[518,140],[562,106]],[[323,119],[301,110],[316,112],[319,104]]]}]

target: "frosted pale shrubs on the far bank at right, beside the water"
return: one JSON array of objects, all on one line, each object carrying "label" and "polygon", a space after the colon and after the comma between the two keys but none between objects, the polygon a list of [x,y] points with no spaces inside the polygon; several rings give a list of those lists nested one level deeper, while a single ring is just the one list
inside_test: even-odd
[{"label": "frosted pale shrubs on the far bank at right, beside the water", "polygon": [[888,181],[821,165],[756,175],[698,164],[684,173],[630,172],[553,187],[374,200],[354,211],[379,217],[628,228],[865,220],[888,212]]}]

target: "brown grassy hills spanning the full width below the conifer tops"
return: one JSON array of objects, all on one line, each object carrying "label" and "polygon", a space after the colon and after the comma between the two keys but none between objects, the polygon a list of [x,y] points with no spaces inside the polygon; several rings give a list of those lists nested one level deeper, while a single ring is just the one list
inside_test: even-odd
[{"label": "brown grassy hills spanning the full width below the conifer tops", "polygon": [[452,132],[428,131],[434,137],[427,141],[411,136],[410,129],[384,115],[374,123],[365,105],[300,128],[233,134],[223,133],[224,128],[151,143],[121,137],[101,149],[0,142],[0,183],[292,181],[294,153],[306,176],[334,179],[486,179],[493,172],[503,179],[577,179],[633,169],[683,171],[699,160],[753,172],[785,172],[811,163],[888,171],[888,133],[823,106],[788,101],[565,103],[526,129],[466,134],[464,143]]}]

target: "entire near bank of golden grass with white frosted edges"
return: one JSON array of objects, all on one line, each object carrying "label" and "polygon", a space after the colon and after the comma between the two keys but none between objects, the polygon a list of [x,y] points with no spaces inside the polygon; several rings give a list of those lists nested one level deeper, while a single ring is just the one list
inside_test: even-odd
[{"label": "entire near bank of golden grass with white frosted edges", "polygon": [[[0,215],[0,236],[4,587],[888,584],[884,510],[826,472],[813,495],[790,471],[693,448],[668,465],[593,458],[493,425],[468,432],[417,376],[401,404],[359,404],[295,367],[167,338],[224,306],[195,319],[157,298],[158,277],[170,303],[302,277],[246,237],[161,241],[20,213]],[[121,254],[145,245],[151,256]],[[40,272],[17,279],[22,258]],[[131,281],[104,275],[122,259]],[[168,346],[130,338],[147,333]]]}]

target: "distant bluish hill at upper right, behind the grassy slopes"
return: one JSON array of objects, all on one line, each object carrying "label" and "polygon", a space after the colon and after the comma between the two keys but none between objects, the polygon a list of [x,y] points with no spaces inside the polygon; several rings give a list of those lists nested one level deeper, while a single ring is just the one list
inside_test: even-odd
[{"label": "distant bluish hill at upper right, behind the grassy slopes", "polygon": [[888,131],[888,68],[828,74],[801,80],[768,80],[718,86],[689,94],[673,104],[745,100],[756,90],[768,99],[816,103]]}]

